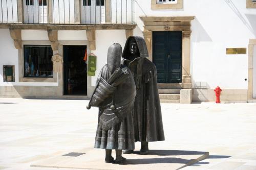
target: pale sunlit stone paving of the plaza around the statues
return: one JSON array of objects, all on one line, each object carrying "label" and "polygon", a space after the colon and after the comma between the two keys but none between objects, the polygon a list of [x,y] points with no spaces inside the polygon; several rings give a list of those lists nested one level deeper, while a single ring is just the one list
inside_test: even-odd
[{"label": "pale sunlit stone paving of the plaza around the statues", "polygon": [[[68,169],[54,168],[68,159],[73,168],[177,169],[205,153],[183,169],[256,169],[256,104],[161,104],[165,141],[150,143],[151,155],[125,155],[128,163],[114,166],[93,149],[98,113],[88,102],[0,99],[0,169]],[[85,154],[62,156],[71,152]]]}]

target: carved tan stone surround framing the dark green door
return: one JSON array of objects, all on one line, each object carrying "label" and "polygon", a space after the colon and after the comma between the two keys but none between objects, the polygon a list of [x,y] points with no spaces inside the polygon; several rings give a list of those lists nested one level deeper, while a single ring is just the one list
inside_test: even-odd
[{"label": "carved tan stone surround framing the dark green door", "polygon": [[192,88],[190,75],[190,21],[195,16],[140,16],[144,22],[144,39],[150,60],[152,58],[152,32],[153,31],[182,31],[182,82],[171,83],[174,88]]}]

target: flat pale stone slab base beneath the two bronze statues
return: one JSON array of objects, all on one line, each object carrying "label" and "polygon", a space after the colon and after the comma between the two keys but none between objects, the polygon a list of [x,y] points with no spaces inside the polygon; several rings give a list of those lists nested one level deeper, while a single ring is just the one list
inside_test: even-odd
[{"label": "flat pale stone slab base beneath the two bronze statues", "polygon": [[[55,156],[32,164],[32,167],[78,168],[78,169],[180,169],[208,158],[208,152],[151,150],[148,155],[123,155],[127,160],[122,164],[105,163],[104,150],[84,149],[76,151],[85,153],[77,157]],[[115,155],[113,151],[112,156]]]}]

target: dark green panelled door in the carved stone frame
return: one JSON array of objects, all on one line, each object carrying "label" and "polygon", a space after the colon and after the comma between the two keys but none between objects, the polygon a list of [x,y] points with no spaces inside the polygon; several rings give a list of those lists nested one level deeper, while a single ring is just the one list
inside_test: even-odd
[{"label": "dark green panelled door in the carved stone frame", "polygon": [[181,82],[181,31],[153,32],[153,62],[158,83]]}]

